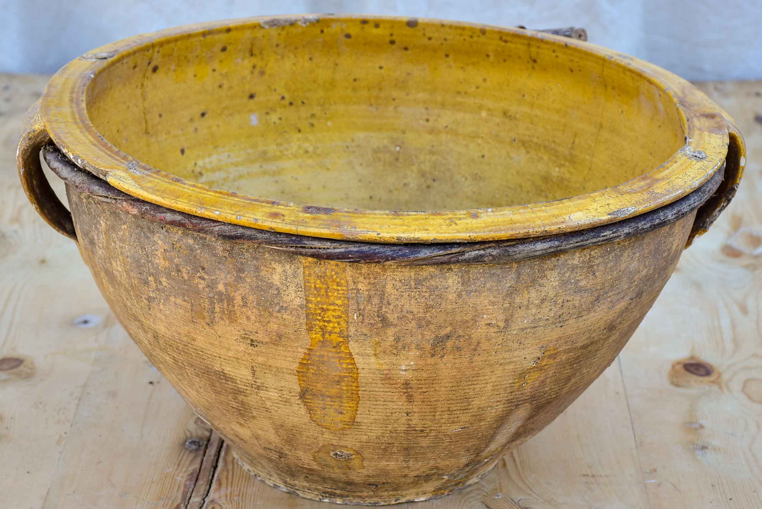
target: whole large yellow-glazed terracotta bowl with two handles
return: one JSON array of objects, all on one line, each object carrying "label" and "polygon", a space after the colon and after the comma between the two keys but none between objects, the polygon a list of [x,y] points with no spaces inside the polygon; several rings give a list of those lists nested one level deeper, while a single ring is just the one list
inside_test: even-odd
[{"label": "whole large yellow-glazed terracotta bowl with two handles", "polygon": [[245,469],[392,504],[475,482],[609,366],[744,145],[687,82],[580,40],[298,16],[75,59],[18,165]]}]

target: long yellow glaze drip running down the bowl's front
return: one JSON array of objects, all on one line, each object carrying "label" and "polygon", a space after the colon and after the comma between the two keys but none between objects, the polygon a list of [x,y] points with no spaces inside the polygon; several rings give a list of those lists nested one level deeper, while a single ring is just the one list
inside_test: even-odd
[{"label": "long yellow glaze drip running down the bowl's front", "polygon": [[360,402],[349,349],[346,264],[303,259],[309,347],[299,361],[299,399],[312,422],[329,431],[352,427]]}]

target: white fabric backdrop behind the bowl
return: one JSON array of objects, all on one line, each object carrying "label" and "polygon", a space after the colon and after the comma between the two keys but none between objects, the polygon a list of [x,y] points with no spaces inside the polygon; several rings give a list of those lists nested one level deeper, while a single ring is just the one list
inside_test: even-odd
[{"label": "white fabric backdrop behind the bowl", "polygon": [[101,44],[179,24],[320,12],[575,25],[691,80],[762,78],[762,0],[0,0],[0,72],[54,72]]}]

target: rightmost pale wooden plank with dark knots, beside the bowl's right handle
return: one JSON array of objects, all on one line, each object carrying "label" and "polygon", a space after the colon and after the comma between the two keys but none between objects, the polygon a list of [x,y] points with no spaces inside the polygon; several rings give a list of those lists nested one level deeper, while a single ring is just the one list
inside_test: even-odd
[{"label": "rightmost pale wooden plank with dark knots, beside the bowl's right handle", "polygon": [[746,136],[744,181],[620,360],[650,507],[762,507],[762,257],[727,245],[762,235],[762,83],[701,88]]}]

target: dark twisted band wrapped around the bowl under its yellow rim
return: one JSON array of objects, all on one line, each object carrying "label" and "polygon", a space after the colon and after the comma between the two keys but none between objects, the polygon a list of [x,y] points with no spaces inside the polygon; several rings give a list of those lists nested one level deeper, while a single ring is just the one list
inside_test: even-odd
[{"label": "dark twisted band wrapped around the bowl under its yellow rim", "polygon": [[722,165],[709,181],[680,200],[640,216],[604,226],[558,235],[494,242],[376,244],[271,232],[191,216],[191,214],[167,209],[123,193],[123,191],[88,173],[88,171],[77,168],[53,144],[43,149],[43,157],[50,169],[59,178],[62,178],[67,186],[75,187],[80,193],[107,200],[112,206],[116,206],[131,215],[140,216],[152,222],[187,228],[194,232],[225,240],[253,242],[267,248],[287,251],[293,255],[354,263],[440,265],[488,264],[527,260],[643,235],[687,216],[698,207],[716,210],[712,207],[712,200],[729,200],[725,197],[728,190],[720,188],[725,175],[725,165]]}]

